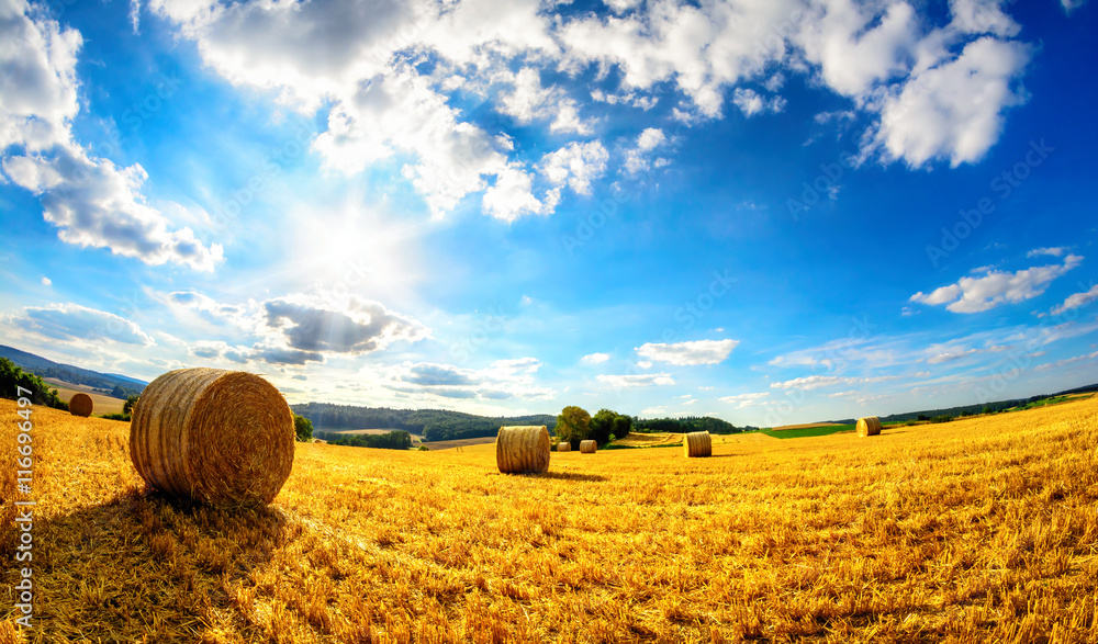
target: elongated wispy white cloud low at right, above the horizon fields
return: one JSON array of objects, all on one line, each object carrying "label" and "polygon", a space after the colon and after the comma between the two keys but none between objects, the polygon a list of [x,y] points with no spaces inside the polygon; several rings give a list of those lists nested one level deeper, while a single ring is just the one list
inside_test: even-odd
[{"label": "elongated wispy white cloud low at right, above the horizon fields", "polygon": [[920,291],[910,301],[932,306],[948,304],[945,308],[953,313],[981,313],[1041,295],[1053,280],[1082,261],[1082,257],[1068,255],[1063,264],[1034,267],[1015,273],[988,271],[983,278],[961,278],[956,284],[941,286],[929,294]]}]

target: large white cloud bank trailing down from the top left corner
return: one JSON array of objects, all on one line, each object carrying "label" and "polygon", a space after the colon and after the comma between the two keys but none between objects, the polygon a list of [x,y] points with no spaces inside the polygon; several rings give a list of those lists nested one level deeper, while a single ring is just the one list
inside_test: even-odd
[{"label": "large white cloud bank trailing down from the top left corner", "polygon": [[0,181],[5,177],[38,195],[44,218],[67,244],[107,248],[154,265],[213,270],[222,247],[208,248],[190,228],[171,230],[168,217],[141,193],[148,178],[144,168],[119,168],[74,140],[79,32],[61,31],[24,2],[9,7],[8,14],[0,23]]}]

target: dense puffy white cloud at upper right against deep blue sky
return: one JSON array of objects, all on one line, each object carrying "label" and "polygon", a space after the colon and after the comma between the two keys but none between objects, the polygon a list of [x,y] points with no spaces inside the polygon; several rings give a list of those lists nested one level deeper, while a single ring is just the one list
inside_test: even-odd
[{"label": "dense puffy white cloud at upper right against deep blue sky", "polygon": [[883,100],[873,145],[912,167],[978,161],[999,138],[1004,110],[1026,99],[1015,86],[1029,58],[1028,46],[987,36],[956,59],[914,74]]}]

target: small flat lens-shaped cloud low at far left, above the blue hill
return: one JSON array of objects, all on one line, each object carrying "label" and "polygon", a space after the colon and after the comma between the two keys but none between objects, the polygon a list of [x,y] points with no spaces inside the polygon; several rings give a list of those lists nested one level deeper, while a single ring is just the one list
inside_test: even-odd
[{"label": "small flat lens-shaped cloud low at far left, above the blue hill", "polygon": [[136,324],[79,304],[56,304],[48,307],[27,306],[21,314],[9,316],[16,327],[46,338],[61,341],[113,340],[123,344],[148,347],[153,338]]}]

